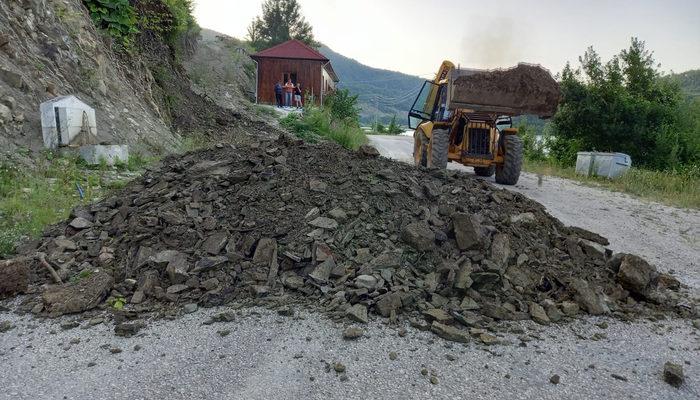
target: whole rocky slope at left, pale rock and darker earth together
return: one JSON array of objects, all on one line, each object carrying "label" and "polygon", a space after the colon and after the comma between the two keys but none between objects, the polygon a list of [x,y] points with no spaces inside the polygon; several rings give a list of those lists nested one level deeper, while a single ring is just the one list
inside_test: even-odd
[{"label": "whole rocky slope at left, pale rock and darker earth together", "polygon": [[135,152],[167,153],[190,134],[267,131],[264,121],[236,107],[239,100],[245,103],[240,91],[229,92],[237,99],[229,104],[233,110],[195,91],[182,61],[199,54],[197,33],[167,36],[169,27],[158,24],[172,24],[175,17],[167,15],[165,2],[138,2],[135,10],[139,33],[124,50],[95,27],[80,0],[0,2],[5,154],[43,149],[39,104],[68,94],[95,108],[101,142],[126,143]]}]

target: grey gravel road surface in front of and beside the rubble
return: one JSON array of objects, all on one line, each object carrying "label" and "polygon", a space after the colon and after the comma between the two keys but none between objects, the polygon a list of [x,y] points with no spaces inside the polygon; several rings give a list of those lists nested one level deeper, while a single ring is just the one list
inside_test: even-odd
[{"label": "grey gravel road surface in front of and beside the rubble", "polygon": [[[371,140],[382,154],[410,160],[411,138]],[[614,250],[641,254],[700,287],[697,212],[564,179],[545,177],[538,186],[529,174],[509,189],[542,202],[567,224],[608,237]],[[0,305],[11,310],[21,300]],[[700,398],[700,329],[687,320],[513,322],[513,333],[500,338],[505,344],[486,347],[410,327],[399,337],[381,321],[346,341],[343,325],[303,310],[296,317],[245,310],[232,322],[202,324],[220,311],[153,321],[130,339],[114,336],[109,322],[88,327],[79,321],[80,327],[64,330],[61,324],[75,317],[0,311],[0,322],[14,326],[0,333],[0,399]],[[518,336],[531,341],[522,346]],[[680,389],[663,381],[666,361],[683,365]],[[336,362],[345,373],[326,372],[326,363]],[[559,384],[550,383],[554,374]]]}]

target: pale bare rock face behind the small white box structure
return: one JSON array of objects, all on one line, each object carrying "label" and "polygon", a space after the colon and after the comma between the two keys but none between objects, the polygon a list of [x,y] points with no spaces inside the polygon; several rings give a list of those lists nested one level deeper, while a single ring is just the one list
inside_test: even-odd
[{"label": "pale bare rock face behind the small white box structure", "polygon": [[134,60],[125,68],[79,0],[0,3],[0,147],[43,148],[39,104],[73,94],[96,109],[101,141],[150,151],[172,149],[156,105],[155,80]]}]

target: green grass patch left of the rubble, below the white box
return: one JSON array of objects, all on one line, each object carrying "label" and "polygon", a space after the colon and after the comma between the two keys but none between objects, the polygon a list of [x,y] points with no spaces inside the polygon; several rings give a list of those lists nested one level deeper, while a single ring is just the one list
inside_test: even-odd
[{"label": "green grass patch left of the rubble, below the white box", "polygon": [[45,153],[31,168],[0,164],[0,257],[11,255],[20,240],[67,218],[78,204],[123,187],[129,178],[119,178],[120,172],[139,171],[150,162],[133,156],[114,167],[87,166],[77,157]]}]

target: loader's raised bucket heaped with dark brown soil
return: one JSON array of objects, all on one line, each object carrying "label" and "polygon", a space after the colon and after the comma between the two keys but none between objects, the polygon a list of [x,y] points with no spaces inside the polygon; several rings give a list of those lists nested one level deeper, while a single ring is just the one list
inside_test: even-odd
[{"label": "loader's raised bucket heaped with dark brown soil", "polygon": [[559,84],[549,71],[537,65],[458,71],[453,79],[452,107],[547,118],[554,115],[559,104]]}]

